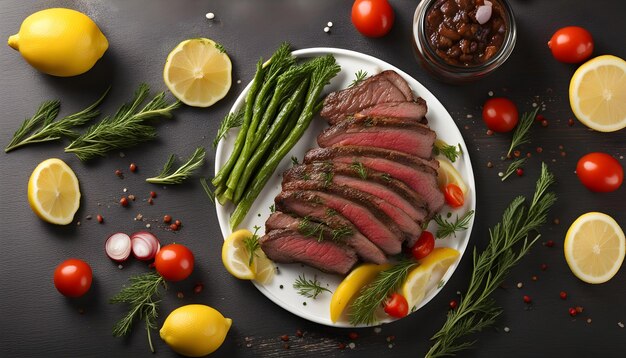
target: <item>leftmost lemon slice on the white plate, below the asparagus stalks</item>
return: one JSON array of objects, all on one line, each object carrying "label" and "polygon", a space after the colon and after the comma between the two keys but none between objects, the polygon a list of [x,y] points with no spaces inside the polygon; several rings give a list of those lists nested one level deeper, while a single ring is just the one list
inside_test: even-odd
[{"label": "leftmost lemon slice on the white plate, below the asparagus stalks", "polygon": [[248,230],[237,230],[230,234],[222,245],[222,263],[226,270],[233,276],[242,280],[252,280],[256,277],[256,262],[250,262],[250,253],[246,248],[244,240],[251,237]]}]

